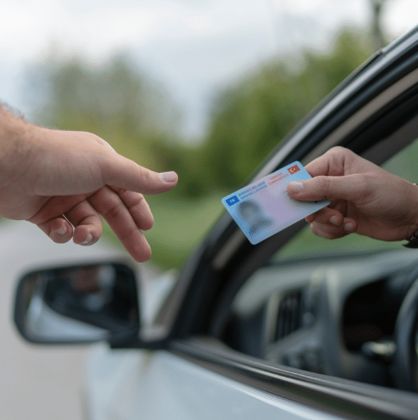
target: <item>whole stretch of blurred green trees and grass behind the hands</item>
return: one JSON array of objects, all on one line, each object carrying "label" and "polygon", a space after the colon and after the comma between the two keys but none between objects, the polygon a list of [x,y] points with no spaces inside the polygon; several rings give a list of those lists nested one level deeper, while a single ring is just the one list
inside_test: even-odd
[{"label": "whole stretch of blurred green trees and grass behind the hands", "polygon": [[146,235],[155,263],[179,266],[221,214],[221,196],[370,53],[361,33],[343,31],[327,56],[303,53],[297,71],[286,57],[264,63],[219,95],[207,138],[197,145],[179,139],[180,115],[164,89],[123,57],[100,67],[51,60],[33,70],[36,120],[94,132],[145,167],[177,171],[174,190],[147,198],[155,227]]}]

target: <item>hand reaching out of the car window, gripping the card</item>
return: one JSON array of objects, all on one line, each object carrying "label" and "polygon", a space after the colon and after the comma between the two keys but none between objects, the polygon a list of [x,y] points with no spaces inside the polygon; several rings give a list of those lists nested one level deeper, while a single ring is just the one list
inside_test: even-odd
[{"label": "hand reaching out of the car window, gripping the card", "polygon": [[306,217],[313,233],[340,238],[357,232],[400,241],[418,228],[418,187],[343,147],[334,147],[305,169],[313,177],[288,184],[297,200],[329,199],[330,206]]}]

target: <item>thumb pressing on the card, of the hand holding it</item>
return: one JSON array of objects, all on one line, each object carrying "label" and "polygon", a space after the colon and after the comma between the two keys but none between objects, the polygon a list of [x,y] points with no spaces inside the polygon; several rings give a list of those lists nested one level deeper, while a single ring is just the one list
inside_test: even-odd
[{"label": "thumb pressing on the card, of the hand holding it", "polygon": [[[362,188],[363,187],[363,188]],[[342,177],[314,177],[305,181],[289,182],[286,191],[293,199],[317,201],[344,199],[354,201],[364,191],[365,185],[355,181],[355,175]]]}]

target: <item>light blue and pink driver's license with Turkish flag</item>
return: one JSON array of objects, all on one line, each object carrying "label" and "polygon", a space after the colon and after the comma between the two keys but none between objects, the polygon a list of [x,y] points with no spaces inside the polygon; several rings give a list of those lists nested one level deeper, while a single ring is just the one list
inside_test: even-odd
[{"label": "light blue and pink driver's license with Turkish flag", "polygon": [[293,162],[221,201],[253,244],[263,241],[328,206],[330,201],[298,201],[286,192],[289,182],[310,179],[300,162]]}]

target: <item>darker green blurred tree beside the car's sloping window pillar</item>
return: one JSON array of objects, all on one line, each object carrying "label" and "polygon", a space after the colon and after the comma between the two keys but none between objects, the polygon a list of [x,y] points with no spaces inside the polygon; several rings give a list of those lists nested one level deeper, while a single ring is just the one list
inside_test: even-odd
[{"label": "darker green blurred tree beside the car's sloping window pillar", "polygon": [[360,34],[344,31],[328,56],[305,52],[289,73],[267,63],[219,98],[202,154],[216,187],[238,187],[301,118],[370,56]]}]

